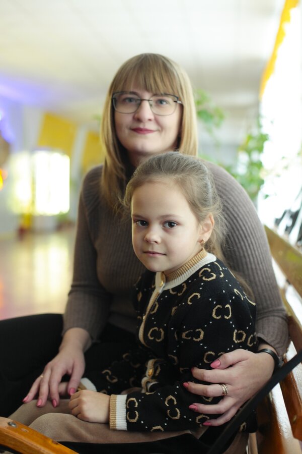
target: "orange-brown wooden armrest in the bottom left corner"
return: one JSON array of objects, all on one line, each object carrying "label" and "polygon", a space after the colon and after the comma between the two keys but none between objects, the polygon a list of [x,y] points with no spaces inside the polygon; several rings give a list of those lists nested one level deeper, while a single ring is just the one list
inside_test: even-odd
[{"label": "orange-brown wooden armrest in the bottom left corner", "polygon": [[0,452],[1,449],[11,449],[22,454],[74,454],[75,452],[18,421],[3,417],[0,417]]}]

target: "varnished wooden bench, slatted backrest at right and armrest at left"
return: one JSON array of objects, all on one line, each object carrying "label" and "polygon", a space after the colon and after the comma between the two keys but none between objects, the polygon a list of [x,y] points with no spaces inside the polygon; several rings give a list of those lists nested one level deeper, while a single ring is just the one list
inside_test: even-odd
[{"label": "varnished wooden bench, slatted backrest at right and armrest at left", "polygon": [[[302,254],[272,230],[266,228],[266,233],[288,313],[291,343],[284,357],[284,361],[288,361],[302,349]],[[258,407],[257,415],[259,430],[250,436],[249,454],[301,454],[302,364],[273,388]],[[0,418],[0,446],[23,454],[74,453],[8,418]]]}]

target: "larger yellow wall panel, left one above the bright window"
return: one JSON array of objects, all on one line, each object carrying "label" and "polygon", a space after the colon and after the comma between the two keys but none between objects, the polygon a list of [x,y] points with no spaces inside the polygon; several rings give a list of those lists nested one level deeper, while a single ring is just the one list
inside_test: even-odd
[{"label": "larger yellow wall panel, left one above the bright window", "polygon": [[46,112],[38,138],[38,147],[58,148],[70,157],[76,133],[75,123]]}]

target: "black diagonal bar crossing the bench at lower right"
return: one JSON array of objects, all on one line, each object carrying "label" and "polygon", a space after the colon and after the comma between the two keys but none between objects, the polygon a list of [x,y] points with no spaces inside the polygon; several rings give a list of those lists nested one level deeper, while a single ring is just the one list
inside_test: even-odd
[{"label": "black diagonal bar crossing the bench at lower right", "polygon": [[[277,355],[276,355],[277,356]],[[239,410],[236,416],[229,422],[221,434],[216,438],[214,444],[208,449],[207,454],[220,454],[221,446],[224,446],[231,436],[239,429],[241,424],[246,420],[249,414],[257,407],[262,399],[269,393],[279,381],[283,380],[286,375],[302,361],[302,350],[291,358],[287,363],[272,375],[268,382]]]}]

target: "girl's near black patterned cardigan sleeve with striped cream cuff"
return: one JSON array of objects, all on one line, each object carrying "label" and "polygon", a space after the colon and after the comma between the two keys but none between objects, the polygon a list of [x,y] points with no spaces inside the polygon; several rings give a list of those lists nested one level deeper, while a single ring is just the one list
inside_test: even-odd
[{"label": "girl's near black patterned cardigan sleeve with striped cream cuff", "polygon": [[[245,301],[243,301],[245,300]],[[189,309],[189,310],[188,310]],[[179,312],[179,314],[178,314]],[[252,315],[253,314],[253,315]],[[189,409],[192,394],[186,390],[186,381],[200,381],[191,374],[193,366],[209,368],[221,353],[244,348],[256,350],[254,323],[255,305],[243,292],[220,293],[215,299],[201,299],[194,292],[180,304],[169,327],[168,350],[178,359],[171,376],[175,381],[164,383],[153,392],[132,392],[125,396],[111,395],[110,428],[128,431],[197,430],[215,415],[196,414]],[[177,374],[177,369],[179,374]],[[152,370],[150,376],[153,373]],[[195,402],[216,404],[221,399],[194,395]]]}]

